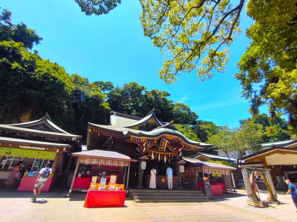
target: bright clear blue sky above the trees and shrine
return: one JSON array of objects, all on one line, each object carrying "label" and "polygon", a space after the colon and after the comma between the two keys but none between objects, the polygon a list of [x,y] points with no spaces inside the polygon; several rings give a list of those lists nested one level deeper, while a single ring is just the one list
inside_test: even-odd
[{"label": "bright clear blue sky above the trees and shrine", "polygon": [[148,90],[166,90],[171,94],[169,99],[187,104],[200,120],[217,125],[236,127],[238,120],[249,117],[249,103],[241,97],[241,86],[233,78],[236,62],[249,42],[244,32],[252,20],[245,11],[240,25],[243,32],[230,46],[232,56],[226,73],[214,72],[212,78],[199,82],[192,72],[167,86],[158,74],[167,56],[143,36],[137,0],[123,0],[108,15],[99,17],[86,16],[74,0],[4,0],[0,7],[12,12],[14,23],[23,22],[35,29],[43,41],[34,49],[69,74],[78,73],[90,82],[111,81],[121,86],[137,81]]}]

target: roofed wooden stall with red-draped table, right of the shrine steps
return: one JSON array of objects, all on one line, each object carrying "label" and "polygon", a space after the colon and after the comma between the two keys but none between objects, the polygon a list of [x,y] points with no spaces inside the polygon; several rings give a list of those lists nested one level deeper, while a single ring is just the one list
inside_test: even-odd
[{"label": "roofed wooden stall with red-draped table, right of the shrine steps", "polygon": [[204,191],[205,178],[208,178],[212,195],[222,195],[223,190],[232,191],[234,189],[234,178],[231,170],[236,170],[236,168],[191,158],[183,158],[183,160],[186,164],[182,178],[188,177],[190,188]]}]

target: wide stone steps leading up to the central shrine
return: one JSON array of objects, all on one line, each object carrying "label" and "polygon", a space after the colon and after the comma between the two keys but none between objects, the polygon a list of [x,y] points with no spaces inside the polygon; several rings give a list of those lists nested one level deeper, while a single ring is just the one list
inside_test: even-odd
[{"label": "wide stone steps leading up to the central shrine", "polygon": [[129,189],[129,197],[137,203],[211,201],[198,190]]}]

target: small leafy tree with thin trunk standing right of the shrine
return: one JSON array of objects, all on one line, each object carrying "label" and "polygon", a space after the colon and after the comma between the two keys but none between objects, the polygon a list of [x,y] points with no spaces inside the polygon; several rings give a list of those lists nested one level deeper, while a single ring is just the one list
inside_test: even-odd
[{"label": "small leafy tree with thin trunk standing right of the shrine", "polygon": [[[260,150],[258,145],[262,141],[263,126],[254,122],[243,124],[240,128],[230,129],[229,126],[221,127],[219,133],[208,138],[208,142],[221,149],[227,157],[236,159],[236,167],[242,157]],[[231,161],[231,160],[230,160]],[[239,180],[239,169],[236,183]]]}]

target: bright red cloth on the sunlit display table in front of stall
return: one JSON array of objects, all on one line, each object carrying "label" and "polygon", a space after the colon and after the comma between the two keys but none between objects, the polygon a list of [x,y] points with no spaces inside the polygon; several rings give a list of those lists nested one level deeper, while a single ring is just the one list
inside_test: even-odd
[{"label": "bright red cloth on the sunlit display table in front of stall", "polygon": [[83,207],[124,207],[125,196],[125,190],[89,190]]}]

